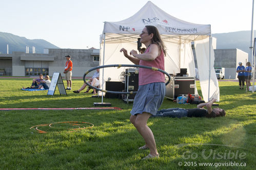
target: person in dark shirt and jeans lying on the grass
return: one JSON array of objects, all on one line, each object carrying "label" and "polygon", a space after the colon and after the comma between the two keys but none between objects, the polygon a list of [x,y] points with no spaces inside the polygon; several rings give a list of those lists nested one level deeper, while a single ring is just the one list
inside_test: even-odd
[{"label": "person in dark shirt and jeans lying on the grass", "polygon": [[[216,99],[212,99],[207,103],[201,103],[196,109],[182,109],[182,108],[169,108],[162,109],[156,112],[156,115],[151,115],[151,117],[220,117],[225,116],[225,110],[221,108],[213,108],[212,104]],[[207,109],[204,107],[206,106]]]}]

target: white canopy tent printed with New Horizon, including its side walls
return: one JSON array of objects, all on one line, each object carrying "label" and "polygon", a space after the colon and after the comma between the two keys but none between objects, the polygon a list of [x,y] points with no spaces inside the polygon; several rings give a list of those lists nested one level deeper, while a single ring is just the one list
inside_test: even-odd
[{"label": "white canopy tent printed with New Horizon, including its side walls", "polygon": [[[169,74],[187,68],[190,77],[195,77],[195,66],[191,42],[194,42],[198,62],[201,90],[204,101],[220,99],[219,84],[213,68],[214,52],[211,45],[210,25],[199,25],[175,18],[150,1],[133,16],[118,22],[105,22],[101,36],[100,65],[133,64],[120,53],[137,49],[137,38],[146,25],[155,26],[167,48],[165,71]],[[119,81],[125,68],[105,68],[100,70],[100,88],[105,81]]]}]

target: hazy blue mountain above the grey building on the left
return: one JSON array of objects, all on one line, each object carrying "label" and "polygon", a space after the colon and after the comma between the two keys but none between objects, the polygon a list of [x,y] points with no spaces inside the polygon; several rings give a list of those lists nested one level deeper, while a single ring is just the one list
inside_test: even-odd
[{"label": "hazy blue mountain above the grey building on the left", "polygon": [[10,33],[0,32],[0,54],[7,53],[7,44],[9,54],[12,52],[26,52],[26,46],[29,46],[29,53],[32,53],[32,47],[35,47],[35,53],[44,53],[44,48],[59,48],[56,45],[43,39],[27,39]]}]

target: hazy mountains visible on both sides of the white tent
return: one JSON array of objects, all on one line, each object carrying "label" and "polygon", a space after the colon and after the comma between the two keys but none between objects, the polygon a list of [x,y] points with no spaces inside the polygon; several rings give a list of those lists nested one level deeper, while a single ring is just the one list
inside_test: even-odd
[{"label": "hazy mountains visible on both sides of the white tent", "polygon": [[[254,31],[254,35],[255,35]],[[250,53],[250,34],[251,31],[238,31],[230,33],[212,34],[217,39],[217,49],[238,48],[246,53]],[[44,53],[44,48],[59,48],[56,45],[43,39],[27,39],[10,33],[0,32],[0,54],[7,53],[7,44],[9,54],[13,51],[26,52],[26,46],[29,46],[29,53],[32,53],[32,46],[35,46],[36,53]]]}]

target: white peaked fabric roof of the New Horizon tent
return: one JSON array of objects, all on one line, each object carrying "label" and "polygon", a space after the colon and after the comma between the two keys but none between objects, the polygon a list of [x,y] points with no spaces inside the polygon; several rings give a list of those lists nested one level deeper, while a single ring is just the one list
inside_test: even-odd
[{"label": "white peaked fabric roof of the New Horizon tent", "polygon": [[150,1],[140,11],[127,19],[117,22],[106,21],[104,23],[103,33],[106,33],[108,37],[106,41],[114,42],[116,42],[116,38],[129,40],[129,38],[139,37],[145,25],[156,26],[163,36],[162,38],[169,39],[169,37],[172,37],[177,41],[180,40],[179,35],[183,35],[183,39],[186,40],[205,38],[197,35],[211,35],[210,25],[200,25],[175,18]]}]

